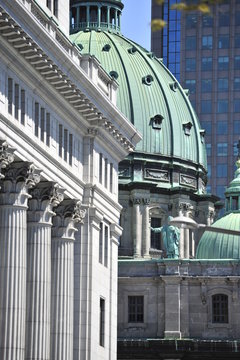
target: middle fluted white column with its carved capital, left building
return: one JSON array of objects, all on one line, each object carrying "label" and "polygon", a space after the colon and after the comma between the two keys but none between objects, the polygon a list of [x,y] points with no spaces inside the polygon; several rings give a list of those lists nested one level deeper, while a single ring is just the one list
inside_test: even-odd
[{"label": "middle fluted white column with its carved capital, left building", "polygon": [[30,191],[27,214],[27,316],[25,360],[50,360],[51,227],[64,198],[51,182]]}]

